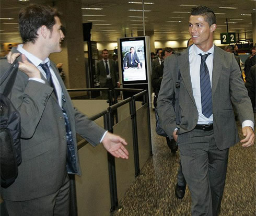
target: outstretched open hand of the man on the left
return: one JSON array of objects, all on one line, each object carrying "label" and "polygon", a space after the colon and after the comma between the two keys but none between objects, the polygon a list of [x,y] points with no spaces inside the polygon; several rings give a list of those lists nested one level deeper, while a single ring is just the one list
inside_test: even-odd
[{"label": "outstretched open hand of the man on the left", "polygon": [[128,159],[129,152],[124,145],[127,145],[125,140],[117,135],[107,132],[102,140],[104,148],[116,158]]}]

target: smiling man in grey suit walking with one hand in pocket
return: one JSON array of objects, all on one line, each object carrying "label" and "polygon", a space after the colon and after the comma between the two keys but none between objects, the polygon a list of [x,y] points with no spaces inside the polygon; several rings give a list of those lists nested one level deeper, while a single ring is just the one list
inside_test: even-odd
[{"label": "smiling man in grey suit walking with one hand in pocket", "polygon": [[[194,44],[180,56],[166,59],[157,100],[162,127],[179,146],[193,216],[219,213],[228,149],[239,141],[232,104],[242,123],[242,146],[254,142],[251,102],[234,55],[213,43],[216,27],[210,8],[192,9],[189,32]],[[176,85],[179,70],[181,80]],[[175,112],[172,98],[177,89],[180,97]]]}]

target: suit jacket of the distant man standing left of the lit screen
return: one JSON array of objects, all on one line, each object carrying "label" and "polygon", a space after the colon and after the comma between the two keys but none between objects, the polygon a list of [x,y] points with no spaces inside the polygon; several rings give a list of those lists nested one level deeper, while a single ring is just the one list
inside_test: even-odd
[{"label": "suit jacket of the distant man standing left of the lit screen", "polygon": [[[112,59],[109,59],[109,71],[110,76],[112,78],[113,87],[117,86],[118,80],[118,72],[116,70],[115,62]],[[102,60],[97,62],[97,71],[96,78],[100,82],[100,88],[104,88],[107,82],[107,72]]]}]

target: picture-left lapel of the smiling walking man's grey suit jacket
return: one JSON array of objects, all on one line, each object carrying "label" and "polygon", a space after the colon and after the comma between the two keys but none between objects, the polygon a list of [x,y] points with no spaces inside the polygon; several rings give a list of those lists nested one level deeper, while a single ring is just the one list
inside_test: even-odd
[{"label": "picture-left lapel of the smiling walking man's grey suit jacket", "polygon": [[196,106],[195,99],[193,96],[192,83],[190,77],[190,64],[189,64],[189,49],[183,54],[178,56],[178,63],[182,81],[184,83],[185,88],[187,89],[191,100]]}]

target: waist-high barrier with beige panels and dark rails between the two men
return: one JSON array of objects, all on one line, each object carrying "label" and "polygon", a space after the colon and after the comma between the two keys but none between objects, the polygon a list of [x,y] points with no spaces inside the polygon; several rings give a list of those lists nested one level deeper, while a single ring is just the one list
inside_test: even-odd
[{"label": "waist-high barrier with beige panels and dark rails between the two men", "polygon": [[[68,89],[68,91],[95,91],[95,89]],[[152,154],[150,116],[147,90],[97,89],[109,91],[109,107],[90,117],[111,133],[118,134],[128,143],[129,159],[115,159],[103,146],[96,148],[80,141],[78,145],[82,176],[71,178],[70,215],[109,215],[120,208],[119,199],[140,174],[144,163]],[[123,101],[112,101],[117,91],[139,92]],[[136,101],[143,98],[143,102]],[[74,105],[81,105],[81,101]],[[98,103],[90,100],[90,103]],[[79,105],[79,106],[80,106]],[[77,107],[79,110],[80,107]],[[128,109],[127,109],[128,108]],[[129,112],[128,112],[129,111]],[[83,112],[83,111],[82,111]],[[103,117],[103,118],[102,118]],[[97,122],[101,119],[100,122]],[[139,122],[139,124],[137,124]]]}]

